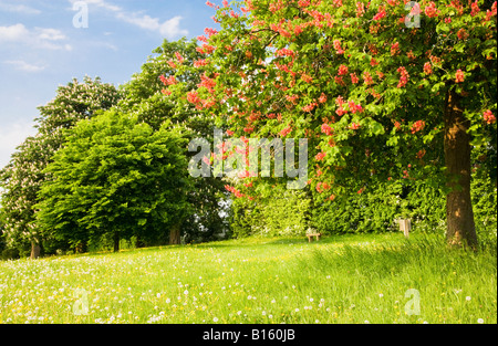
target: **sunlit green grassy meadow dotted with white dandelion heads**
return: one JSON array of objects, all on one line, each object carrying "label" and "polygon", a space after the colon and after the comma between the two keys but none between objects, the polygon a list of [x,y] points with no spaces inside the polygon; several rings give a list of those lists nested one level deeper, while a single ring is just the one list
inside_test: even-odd
[{"label": "sunlit green grassy meadow dotted with white dandelion heads", "polygon": [[0,274],[0,323],[497,323],[496,248],[416,233],[17,260]]}]

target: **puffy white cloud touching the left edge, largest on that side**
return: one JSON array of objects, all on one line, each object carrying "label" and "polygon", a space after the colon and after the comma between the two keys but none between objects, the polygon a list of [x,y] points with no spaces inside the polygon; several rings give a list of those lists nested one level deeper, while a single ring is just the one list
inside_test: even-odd
[{"label": "puffy white cloud touching the left edge, largest on that side", "polygon": [[58,29],[34,28],[30,30],[22,23],[0,27],[0,42],[23,43],[32,48],[70,51],[71,45],[56,43],[66,39],[62,31]]}]

